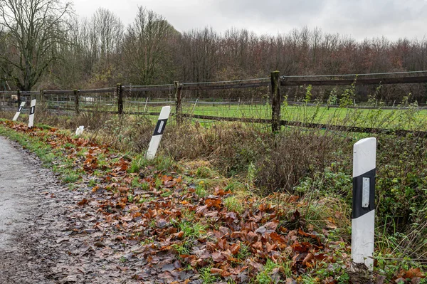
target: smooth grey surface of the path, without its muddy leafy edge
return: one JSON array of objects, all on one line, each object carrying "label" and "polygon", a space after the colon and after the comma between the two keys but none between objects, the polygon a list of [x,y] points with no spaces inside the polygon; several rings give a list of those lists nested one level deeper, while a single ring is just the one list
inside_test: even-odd
[{"label": "smooth grey surface of the path, without its muddy leafy edge", "polygon": [[35,220],[43,217],[40,191],[49,177],[42,180],[39,164],[12,144],[0,137],[0,282],[53,283],[35,256],[37,243],[31,243]]}]

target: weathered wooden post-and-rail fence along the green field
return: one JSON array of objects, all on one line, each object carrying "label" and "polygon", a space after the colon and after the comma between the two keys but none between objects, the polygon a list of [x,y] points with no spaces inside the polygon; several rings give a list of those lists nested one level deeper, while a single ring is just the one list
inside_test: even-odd
[{"label": "weathered wooden post-and-rail fence along the green field", "polygon": [[[322,125],[316,123],[302,123],[302,122],[289,122],[280,120],[282,95],[280,95],[280,87],[282,86],[300,86],[300,85],[316,85],[316,86],[337,86],[337,85],[387,85],[387,84],[408,84],[408,83],[427,83],[427,76],[406,76],[395,78],[357,78],[352,79],[337,79],[337,80],[301,80],[300,78],[280,77],[279,71],[271,73],[270,78],[254,79],[254,80],[240,80],[228,82],[214,82],[214,83],[179,83],[175,81],[174,84],[168,85],[152,85],[152,86],[129,86],[117,84],[115,88],[102,88],[92,90],[40,90],[38,92],[30,92],[35,95],[42,102],[45,100],[46,95],[68,95],[73,97],[74,107],[73,111],[76,114],[80,113],[80,97],[83,94],[107,94],[114,95],[115,103],[117,103],[117,111],[110,111],[112,113],[122,114],[147,114],[147,112],[125,112],[123,109],[123,93],[126,92],[155,92],[155,91],[170,91],[173,90],[175,116],[176,121],[180,123],[183,117],[194,117],[206,120],[226,120],[226,121],[241,121],[241,122],[255,122],[255,123],[270,123],[273,132],[280,130],[281,125],[293,125],[310,128],[325,128],[335,130],[346,130],[351,132],[385,132],[394,135],[406,135],[408,132],[415,133],[418,136],[427,137],[427,132],[413,132],[407,130],[385,130],[367,127],[344,127],[337,125]],[[271,119],[250,119],[239,117],[215,117],[208,115],[194,115],[184,114],[182,112],[182,91],[183,90],[228,90],[228,89],[248,89],[248,88],[270,88],[270,103],[271,103]],[[22,92],[0,92],[13,93],[17,97],[17,103],[21,101]],[[158,115],[157,112],[149,112],[150,115]]]}]

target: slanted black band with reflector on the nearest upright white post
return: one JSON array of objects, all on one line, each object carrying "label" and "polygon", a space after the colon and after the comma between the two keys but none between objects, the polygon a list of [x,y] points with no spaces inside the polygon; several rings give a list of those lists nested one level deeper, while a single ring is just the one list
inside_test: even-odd
[{"label": "slanted black band with reflector on the nearest upright white post", "polygon": [[[369,205],[363,204],[363,179],[369,178]],[[365,179],[366,186],[367,179]],[[353,178],[353,211],[352,219],[357,219],[375,209],[375,169],[370,170],[359,177]]]}]

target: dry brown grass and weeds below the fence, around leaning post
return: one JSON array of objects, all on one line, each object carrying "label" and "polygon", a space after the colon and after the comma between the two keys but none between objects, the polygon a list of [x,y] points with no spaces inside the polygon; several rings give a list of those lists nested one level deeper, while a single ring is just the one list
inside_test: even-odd
[{"label": "dry brown grass and weeds below the fence, around leaning post", "polygon": [[[154,123],[128,120],[125,130],[127,147],[144,152],[151,139]],[[221,174],[246,177],[248,167],[255,168],[253,182],[271,192],[292,192],[300,179],[322,171],[333,159],[342,137],[297,127],[273,135],[260,125],[238,122],[216,122],[209,127],[187,121],[169,125],[162,138],[162,152],[173,159],[209,161]]]}]

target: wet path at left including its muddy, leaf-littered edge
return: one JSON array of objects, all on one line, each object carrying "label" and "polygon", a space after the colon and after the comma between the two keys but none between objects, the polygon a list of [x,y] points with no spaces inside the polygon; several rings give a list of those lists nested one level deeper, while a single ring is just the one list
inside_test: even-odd
[{"label": "wet path at left including its muddy, leaf-littered edge", "polygon": [[[114,251],[93,243],[95,206],[90,194],[70,191],[20,144],[0,137],[0,283],[135,283],[117,272]],[[120,271],[120,270],[119,270]]]}]

